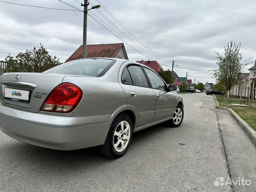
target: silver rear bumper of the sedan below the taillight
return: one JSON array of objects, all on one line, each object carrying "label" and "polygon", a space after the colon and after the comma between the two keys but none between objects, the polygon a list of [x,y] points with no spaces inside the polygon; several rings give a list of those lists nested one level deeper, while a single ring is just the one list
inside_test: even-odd
[{"label": "silver rear bumper of the sedan below the taillight", "polygon": [[[5,110],[5,113],[2,113],[3,110]],[[8,111],[18,111],[18,113],[16,113],[17,116],[6,116]],[[37,117],[33,118],[34,122],[26,122],[20,120],[18,115],[20,113],[22,115],[24,115],[24,113],[28,115],[31,114],[0,105],[0,130],[16,140],[55,150],[76,150],[102,145],[106,140],[106,135],[110,127],[108,121],[73,127],[63,126],[62,128],[58,127],[56,124],[44,126],[41,122],[36,122],[36,120],[45,118],[45,115],[33,114],[33,116]],[[56,118],[58,117],[48,116],[48,122],[56,122]],[[74,117],[73,119],[66,118],[66,123],[69,124],[70,121],[76,121],[76,118],[78,117]],[[98,116],[98,118],[102,119],[103,117]],[[61,120],[62,124],[65,124],[65,122],[63,122],[65,118],[62,117]],[[86,124],[86,122],[82,124]]]}]

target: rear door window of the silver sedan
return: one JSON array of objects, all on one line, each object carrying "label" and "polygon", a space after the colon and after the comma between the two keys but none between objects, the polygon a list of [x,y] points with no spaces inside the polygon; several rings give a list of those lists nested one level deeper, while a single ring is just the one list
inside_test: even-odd
[{"label": "rear door window of the silver sedan", "polygon": [[136,66],[136,65],[128,66],[128,71],[130,72],[132,82],[134,85],[141,86],[141,87],[148,87],[148,81],[140,66]]}]

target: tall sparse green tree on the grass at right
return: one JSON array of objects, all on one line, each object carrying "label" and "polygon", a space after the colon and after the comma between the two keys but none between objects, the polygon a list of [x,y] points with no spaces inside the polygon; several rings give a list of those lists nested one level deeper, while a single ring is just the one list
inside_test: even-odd
[{"label": "tall sparse green tree on the grass at right", "polygon": [[241,44],[230,42],[224,47],[224,56],[218,52],[216,64],[218,68],[212,70],[214,78],[225,86],[227,97],[229,97],[230,89],[236,85],[241,77],[241,72],[244,66],[248,65],[247,60],[241,62],[242,52],[240,52]]}]

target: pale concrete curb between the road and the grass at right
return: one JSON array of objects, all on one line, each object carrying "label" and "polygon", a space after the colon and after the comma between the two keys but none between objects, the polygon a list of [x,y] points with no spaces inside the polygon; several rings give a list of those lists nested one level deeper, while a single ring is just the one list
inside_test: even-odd
[{"label": "pale concrete curb between the road and the grass at right", "polygon": [[222,109],[222,110],[227,110],[229,114],[236,120],[238,125],[244,130],[245,134],[248,136],[252,144],[256,147],[256,131],[253,130],[253,128],[250,127],[236,112],[234,112],[232,109],[227,108],[227,107],[222,107],[219,106],[219,103],[216,99],[216,96],[214,95],[215,101],[216,101],[216,108]]}]

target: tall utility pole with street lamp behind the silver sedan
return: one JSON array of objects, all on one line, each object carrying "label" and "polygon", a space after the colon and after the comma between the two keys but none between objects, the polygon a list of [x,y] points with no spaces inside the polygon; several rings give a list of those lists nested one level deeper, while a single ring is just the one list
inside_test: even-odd
[{"label": "tall utility pole with street lamp behind the silver sedan", "polygon": [[83,31],[83,58],[86,58],[86,41],[87,41],[87,12],[91,9],[98,9],[100,8],[100,5],[94,5],[90,9],[88,9],[88,0],[84,0],[84,4],[81,4],[81,6],[84,6],[84,31]]}]

